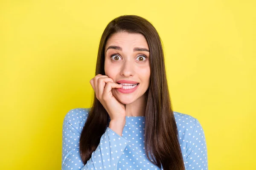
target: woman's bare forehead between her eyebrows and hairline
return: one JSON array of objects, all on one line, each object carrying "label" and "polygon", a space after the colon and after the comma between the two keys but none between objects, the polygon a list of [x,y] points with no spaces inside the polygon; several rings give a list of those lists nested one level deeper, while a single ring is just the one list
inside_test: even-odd
[{"label": "woman's bare forehead between her eyebrows and hairline", "polygon": [[109,45],[125,45],[132,47],[144,47],[148,48],[148,43],[142,34],[118,32],[113,34],[106,43],[106,48]]}]

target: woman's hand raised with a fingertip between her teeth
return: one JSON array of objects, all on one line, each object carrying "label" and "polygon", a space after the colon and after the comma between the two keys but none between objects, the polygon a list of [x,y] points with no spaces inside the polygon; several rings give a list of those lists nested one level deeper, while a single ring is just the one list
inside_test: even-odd
[{"label": "woman's hand raised with a fingertip between her teeth", "polygon": [[97,99],[108,112],[111,122],[115,124],[125,124],[125,105],[113,96],[112,88],[122,88],[106,75],[98,74],[90,79],[90,84],[96,94]]}]

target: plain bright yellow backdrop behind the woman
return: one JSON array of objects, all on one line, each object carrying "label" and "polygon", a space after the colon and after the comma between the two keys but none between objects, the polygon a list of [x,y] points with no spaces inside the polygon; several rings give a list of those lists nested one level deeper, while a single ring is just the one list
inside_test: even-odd
[{"label": "plain bright yellow backdrop behind the woman", "polygon": [[201,123],[209,170],[255,168],[255,9],[254,0],[1,0],[0,169],[61,169],[64,116],[91,106],[100,37],[124,14],[159,32],[173,109]]}]

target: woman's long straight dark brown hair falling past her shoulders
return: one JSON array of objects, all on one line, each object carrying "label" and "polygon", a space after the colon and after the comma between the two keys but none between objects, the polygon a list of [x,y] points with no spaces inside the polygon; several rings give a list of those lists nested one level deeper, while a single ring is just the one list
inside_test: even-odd
[{"label": "woman's long straight dark brown hair falling past her shoulders", "polygon": [[[119,31],[142,34],[150,51],[151,75],[146,91],[145,109],[146,156],[159,168],[162,165],[164,170],[185,170],[166,80],[163,47],[154,26],[136,15],[123,15],[113,19],[103,31],[99,43],[95,75],[105,75],[105,44]],[[80,155],[84,164],[99,145],[100,138],[107,128],[108,118],[107,111],[94,94],[93,106],[80,136]]]}]

